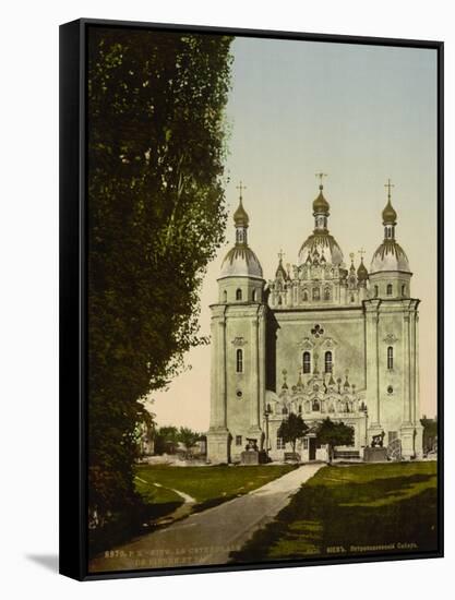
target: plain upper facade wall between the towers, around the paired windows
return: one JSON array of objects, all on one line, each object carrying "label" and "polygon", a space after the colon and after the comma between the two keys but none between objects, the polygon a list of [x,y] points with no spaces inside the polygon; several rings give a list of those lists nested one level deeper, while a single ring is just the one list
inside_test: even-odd
[{"label": "plain upper facade wall between the towers, around the paired windows", "polygon": [[[289,386],[296,384],[299,372],[302,369],[302,341],[308,338],[312,347],[311,352],[319,353],[318,368],[324,372],[324,353],[330,349],[333,353],[333,374],[335,380],[348,379],[357,389],[366,387],[366,343],[364,343],[364,316],[361,308],[333,311],[275,311],[277,321],[276,332],[276,382],[277,391],[283,385],[283,370],[287,371]],[[314,337],[311,329],[319,324],[324,334]],[[333,340],[333,346],[326,346],[327,338]],[[314,356],[312,357],[312,370]],[[303,375],[303,380],[310,375]]]}]

